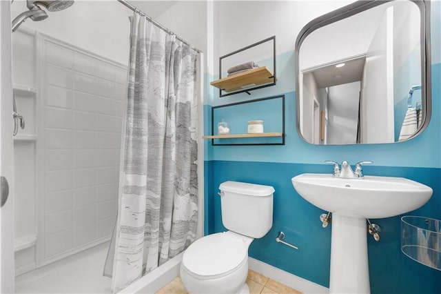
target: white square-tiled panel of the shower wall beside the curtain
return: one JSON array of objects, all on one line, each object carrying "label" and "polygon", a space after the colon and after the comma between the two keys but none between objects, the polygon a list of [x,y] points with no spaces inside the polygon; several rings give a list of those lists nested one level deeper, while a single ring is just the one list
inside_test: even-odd
[{"label": "white square-tiled panel of the shower wall beside the curtain", "polygon": [[127,70],[43,37],[43,263],[110,239]]}]

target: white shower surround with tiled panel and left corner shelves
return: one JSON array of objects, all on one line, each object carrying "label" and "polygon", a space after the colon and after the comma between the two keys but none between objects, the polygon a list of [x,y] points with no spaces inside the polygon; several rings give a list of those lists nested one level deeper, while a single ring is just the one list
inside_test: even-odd
[{"label": "white shower surround with tiled panel and left corner shelves", "polygon": [[26,121],[14,137],[21,275],[110,239],[127,69],[28,30],[12,40],[14,99]]}]

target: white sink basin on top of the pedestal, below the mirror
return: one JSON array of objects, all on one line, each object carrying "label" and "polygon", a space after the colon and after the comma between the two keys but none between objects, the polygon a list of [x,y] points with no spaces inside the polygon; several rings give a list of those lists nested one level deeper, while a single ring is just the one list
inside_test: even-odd
[{"label": "white sink basin on top of the pedestal, below the mirror", "polygon": [[432,188],[402,177],[342,179],[306,173],[291,181],[311,204],[349,217],[393,217],[421,207],[432,195]]}]

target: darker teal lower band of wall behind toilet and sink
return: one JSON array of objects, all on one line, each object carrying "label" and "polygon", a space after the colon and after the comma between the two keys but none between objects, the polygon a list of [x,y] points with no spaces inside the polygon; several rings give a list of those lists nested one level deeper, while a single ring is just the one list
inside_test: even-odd
[{"label": "darker teal lower band of wall behind toilet and sink", "polygon": [[[329,173],[322,164],[282,164],[251,161],[209,161],[214,190],[206,195],[212,212],[209,228],[215,233],[226,231],[220,217],[217,188],[227,180],[274,186],[274,221],[265,237],[256,239],[249,256],[267,264],[329,286],[331,225],[322,228],[319,216],[324,211],[300,197],[291,185],[291,177],[301,173]],[[390,168],[366,166],[365,173],[407,177],[431,186],[434,195],[429,202],[411,215],[441,219],[441,171],[439,168]],[[368,238],[369,272],[372,293],[440,293],[441,272],[413,262],[400,251],[400,217],[372,220],[382,228],[380,242]],[[276,243],[278,231],[284,231],[287,242],[300,250]]]}]

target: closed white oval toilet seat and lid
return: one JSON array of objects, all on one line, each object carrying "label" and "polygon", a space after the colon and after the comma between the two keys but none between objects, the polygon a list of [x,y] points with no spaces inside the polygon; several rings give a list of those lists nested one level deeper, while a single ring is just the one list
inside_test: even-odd
[{"label": "closed white oval toilet seat and lid", "polygon": [[183,270],[198,280],[230,275],[247,262],[243,239],[229,233],[216,233],[196,240],[183,255]]}]

